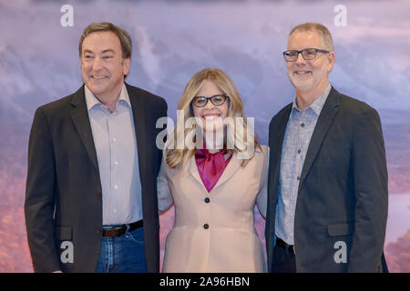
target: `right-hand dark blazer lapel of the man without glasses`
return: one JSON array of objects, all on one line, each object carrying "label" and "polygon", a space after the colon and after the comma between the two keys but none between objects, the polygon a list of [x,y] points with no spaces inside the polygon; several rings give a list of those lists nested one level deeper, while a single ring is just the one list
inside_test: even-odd
[{"label": "right-hand dark blazer lapel of the man without glasses", "polygon": [[127,83],[127,91],[129,96],[129,101],[131,102],[132,115],[134,119],[135,135],[137,137],[137,149],[138,149],[138,166],[139,166],[139,177],[141,180],[141,185],[144,181],[143,174],[146,166],[147,148],[147,128],[146,124],[146,110],[142,97],[137,95]]}]

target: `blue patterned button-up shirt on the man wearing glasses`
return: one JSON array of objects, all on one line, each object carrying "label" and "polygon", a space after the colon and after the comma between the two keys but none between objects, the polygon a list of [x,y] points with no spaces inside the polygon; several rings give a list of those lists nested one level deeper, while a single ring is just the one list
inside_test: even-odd
[{"label": "blue patterned button-up shirt on the man wearing glasses", "polygon": [[295,97],[286,125],[282,144],[275,234],[288,245],[294,245],[294,214],[304,159],[314,127],[331,88],[331,85],[328,85],[313,104],[302,111],[298,108]]}]

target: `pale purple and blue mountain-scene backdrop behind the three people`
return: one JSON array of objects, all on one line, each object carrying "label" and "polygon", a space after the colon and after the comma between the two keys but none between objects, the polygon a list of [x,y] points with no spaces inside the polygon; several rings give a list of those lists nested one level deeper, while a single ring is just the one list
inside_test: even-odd
[{"label": "pale purple and blue mountain-scene backdrop behind the three people", "polygon": [[[60,24],[67,4],[73,26]],[[336,5],[346,8],[346,26],[334,24]],[[82,85],[78,39],[100,21],[128,30],[135,45],[128,83],[165,97],[171,117],[191,75],[204,67],[226,71],[264,145],[272,115],[294,95],[282,60],[289,30],[307,21],[328,26],[336,54],[332,84],[382,117],[386,255],[393,271],[409,272],[410,256],[401,256],[410,254],[409,11],[408,1],[370,0],[0,1],[0,272],[32,271],[23,213],[29,128],[37,106]],[[162,246],[172,218],[172,211],[161,216]],[[263,225],[258,217],[260,234]]]}]

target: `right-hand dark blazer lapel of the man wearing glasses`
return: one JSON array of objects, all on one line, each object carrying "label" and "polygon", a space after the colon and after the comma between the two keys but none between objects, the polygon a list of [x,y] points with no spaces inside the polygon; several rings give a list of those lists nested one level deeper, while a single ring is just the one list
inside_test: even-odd
[{"label": "right-hand dark blazer lapel of the man wearing glasses", "polygon": [[306,158],[304,159],[304,165],[302,168],[301,181],[299,183],[298,191],[301,189],[303,180],[306,177],[306,175],[309,173],[309,169],[311,168],[313,164],[314,158],[316,157],[317,153],[319,152],[320,147],[322,146],[324,136],[329,130],[330,125],[332,125],[334,116],[339,111],[339,102],[340,102],[340,95],[332,87],[332,90],[330,91],[327,97],[327,100],[323,105],[321,115],[319,115],[319,119],[313,131],[311,143],[308,147]]}]

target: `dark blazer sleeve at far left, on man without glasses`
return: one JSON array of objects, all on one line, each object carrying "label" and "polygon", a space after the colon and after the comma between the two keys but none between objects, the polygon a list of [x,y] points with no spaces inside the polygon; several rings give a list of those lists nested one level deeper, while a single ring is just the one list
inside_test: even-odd
[{"label": "dark blazer sleeve at far left, on man without glasses", "polygon": [[54,236],[56,166],[46,115],[38,108],[28,142],[25,216],[35,272],[60,269]]}]

